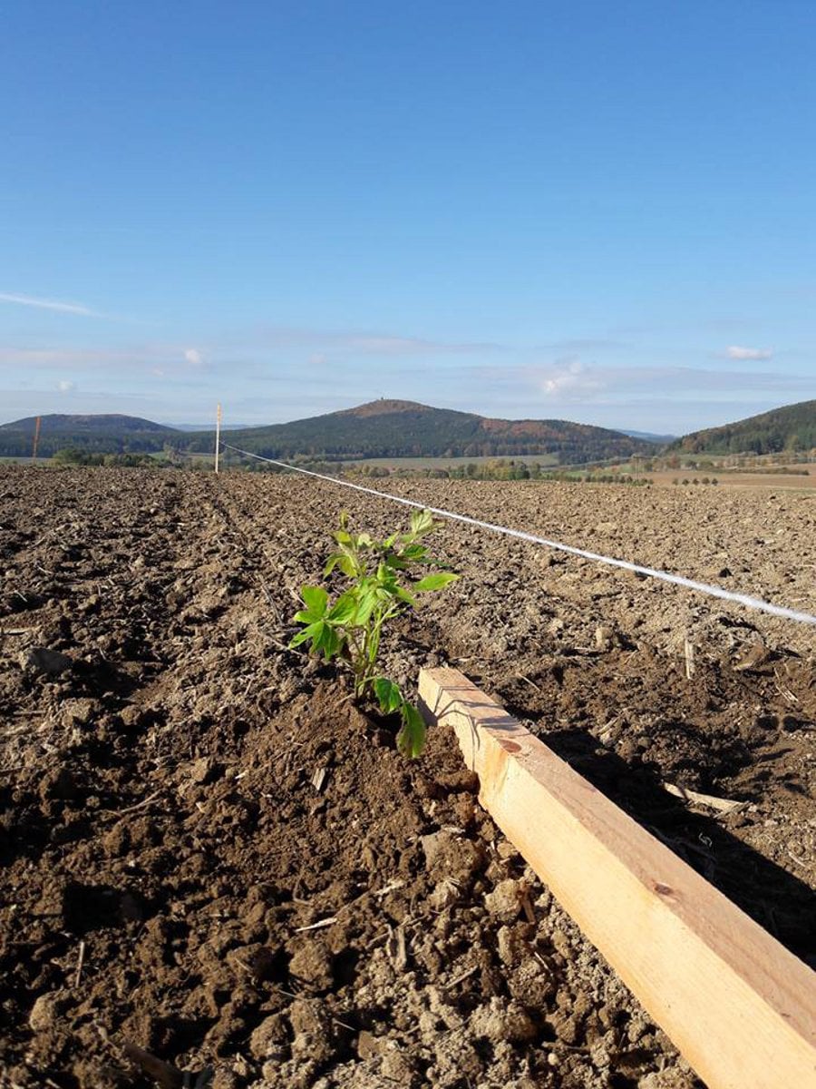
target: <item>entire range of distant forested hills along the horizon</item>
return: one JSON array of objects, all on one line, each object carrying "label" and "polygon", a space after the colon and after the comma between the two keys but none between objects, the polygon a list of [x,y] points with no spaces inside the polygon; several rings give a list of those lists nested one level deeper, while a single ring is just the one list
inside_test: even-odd
[{"label": "entire range of distant forested hills along the horizon", "polygon": [[[36,417],[0,424],[0,456],[32,453]],[[227,430],[227,428],[224,428]],[[230,442],[265,457],[361,461],[367,457],[523,457],[556,454],[561,464],[657,452],[778,453],[816,448],[816,400],[784,405],[720,427],[693,431],[668,448],[642,431],[616,431],[562,419],[494,419],[416,401],[369,401],[323,416],[267,427],[230,427]],[[180,427],[122,414],[41,417],[39,453],[73,446],[87,453],[210,453],[213,428]],[[663,448],[663,451],[662,451]]]}]

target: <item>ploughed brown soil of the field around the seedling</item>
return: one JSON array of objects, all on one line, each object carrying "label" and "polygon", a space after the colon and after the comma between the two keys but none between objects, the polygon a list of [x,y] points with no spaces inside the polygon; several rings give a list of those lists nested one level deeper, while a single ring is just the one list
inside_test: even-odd
[{"label": "ploughed brown soil of the field around the seedling", "polygon": [[[391,486],[816,612],[816,498]],[[286,649],[342,507],[406,516],[302,479],[0,469],[0,1086],[146,1089],[131,1043],[215,1089],[698,1087],[450,737],[404,761]],[[813,629],[474,528],[436,541],[463,577],[400,621],[390,674],[457,665],[816,963]]]}]

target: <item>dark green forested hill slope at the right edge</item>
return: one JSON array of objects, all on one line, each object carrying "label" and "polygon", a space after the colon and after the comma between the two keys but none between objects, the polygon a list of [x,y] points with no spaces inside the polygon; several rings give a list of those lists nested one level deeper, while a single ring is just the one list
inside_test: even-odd
[{"label": "dark green forested hill slope at the right edge", "polygon": [[816,446],[816,401],[801,401],[678,439],[669,450],[694,454],[774,454]]}]

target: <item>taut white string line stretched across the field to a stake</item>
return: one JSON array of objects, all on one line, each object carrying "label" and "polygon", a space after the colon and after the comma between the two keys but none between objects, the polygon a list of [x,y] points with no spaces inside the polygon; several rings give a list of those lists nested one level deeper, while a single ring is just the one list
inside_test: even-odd
[{"label": "taut white string line stretched across the field to a stake", "polygon": [[601,555],[598,552],[588,552],[573,544],[564,544],[561,541],[548,540],[546,537],[539,537],[536,534],[528,534],[521,529],[508,529],[506,526],[496,525],[493,522],[482,522],[480,518],[471,518],[467,514],[456,514],[453,511],[443,511],[436,506],[429,506],[428,503],[419,503],[413,499],[403,499],[401,495],[392,495],[387,491],[379,491],[376,488],[366,488],[361,484],[353,484],[350,480],[339,480],[337,477],[326,476],[323,473],[314,473],[312,469],[304,469],[297,465],[288,465],[286,462],[275,461],[274,457],[261,457],[248,450],[239,450],[223,442],[227,450],[234,450],[237,454],[246,457],[255,457],[259,462],[269,462],[270,465],[280,465],[281,468],[289,469],[292,473],[302,473],[304,476],[316,477],[318,480],[327,480],[329,484],[341,485],[343,488],[353,488],[355,491],[362,491],[369,495],[378,495],[380,499],[390,499],[394,503],[401,503],[404,506],[416,506],[422,511],[430,511],[438,514],[440,517],[450,518],[454,522],[463,522],[469,526],[479,526],[480,529],[490,529],[494,534],[504,534],[505,537],[516,537],[518,540],[529,541],[532,544],[544,544],[547,548],[557,549],[559,552],[568,552],[570,555],[580,555],[584,560],[593,560],[596,563],[605,563],[610,567],[621,567],[623,571],[631,571],[635,575],[646,575],[650,578],[658,578],[664,583],[673,583],[676,586],[684,586],[689,590],[696,590],[698,594],[707,594],[712,598],[721,598],[724,601],[735,601],[746,609],[756,609],[759,612],[770,613],[771,616],[781,616],[784,620],[792,620],[799,624],[816,625],[816,616],[812,613],[799,612],[795,609],[788,609],[784,605],[775,605],[770,601],[763,601],[762,598],[752,598],[747,594],[734,594],[722,586],[713,586],[709,583],[697,583],[693,578],[685,578],[683,575],[672,575],[668,571],[659,571],[656,567],[643,567],[639,563],[631,563],[629,560],[616,560],[614,556]]}]

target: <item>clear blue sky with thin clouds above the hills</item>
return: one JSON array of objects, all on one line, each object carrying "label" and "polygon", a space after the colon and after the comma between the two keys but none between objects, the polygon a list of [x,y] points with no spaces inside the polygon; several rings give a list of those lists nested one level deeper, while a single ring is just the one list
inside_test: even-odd
[{"label": "clear blue sky with thin clouds above the hills", "polygon": [[8,0],[0,421],[816,397],[816,5]]}]

